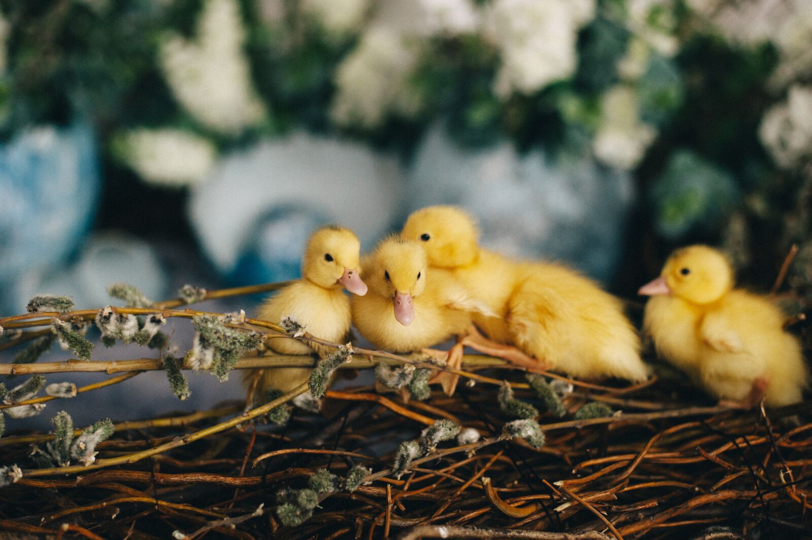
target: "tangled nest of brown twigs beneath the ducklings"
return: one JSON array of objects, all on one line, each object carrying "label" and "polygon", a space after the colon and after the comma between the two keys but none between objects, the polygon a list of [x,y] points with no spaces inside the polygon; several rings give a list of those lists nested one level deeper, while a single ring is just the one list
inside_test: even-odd
[{"label": "tangled nest of brown twigs beneath the ducklings", "polygon": [[[195,313],[171,309],[178,305],[119,311]],[[100,311],[3,322],[7,332]],[[253,319],[228,326],[294,333]],[[41,331],[26,332],[15,339]],[[315,412],[289,405],[308,391],[303,385],[264,404],[122,422],[92,458],[44,468],[32,444],[49,448],[54,434],[6,434],[0,465],[17,464],[22,475],[0,488],[0,529],[132,540],[805,538],[812,530],[810,402],[724,409],[678,376],[634,386],[553,374],[528,381],[475,356],[464,358],[453,396],[432,387],[418,401],[381,392],[367,376],[376,358],[394,356],[355,353],[339,369],[364,376],[337,377]],[[118,379],[162,369],[161,362]],[[231,367],[314,363],[266,356]],[[29,364],[28,373],[31,366],[45,364]],[[54,396],[28,402],[37,399]]]}]

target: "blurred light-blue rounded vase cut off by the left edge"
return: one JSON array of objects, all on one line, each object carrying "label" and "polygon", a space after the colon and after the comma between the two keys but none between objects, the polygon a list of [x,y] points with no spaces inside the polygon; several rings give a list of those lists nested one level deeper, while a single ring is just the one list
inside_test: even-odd
[{"label": "blurred light-blue rounded vase cut off by the left edge", "polygon": [[[79,246],[99,199],[93,131],[30,128],[0,146],[0,307],[23,276],[63,263]],[[42,291],[50,292],[50,291]]]}]

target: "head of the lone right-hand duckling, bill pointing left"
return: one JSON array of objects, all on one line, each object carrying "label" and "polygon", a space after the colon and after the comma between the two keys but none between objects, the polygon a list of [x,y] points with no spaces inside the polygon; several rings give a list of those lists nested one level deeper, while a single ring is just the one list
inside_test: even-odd
[{"label": "head of the lone right-hand duckling, bill pointing left", "polygon": [[716,302],[733,288],[733,269],[721,252],[708,246],[675,251],[660,276],[643,285],[639,294],[672,294],[694,304]]}]

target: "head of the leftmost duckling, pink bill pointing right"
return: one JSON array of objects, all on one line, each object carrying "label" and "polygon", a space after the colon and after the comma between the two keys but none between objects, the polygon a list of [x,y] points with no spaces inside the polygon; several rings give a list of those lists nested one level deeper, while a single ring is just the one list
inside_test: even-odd
[{"label": "head of the leftmost duckling, pink bill pointing right", "polygon": [[361,242],[350,230],[330,225],[318,229],[307,242],[302,259],[302,276],[316,285],[331,289],[341,286],[352,294],[364,296],[361,281]]}]

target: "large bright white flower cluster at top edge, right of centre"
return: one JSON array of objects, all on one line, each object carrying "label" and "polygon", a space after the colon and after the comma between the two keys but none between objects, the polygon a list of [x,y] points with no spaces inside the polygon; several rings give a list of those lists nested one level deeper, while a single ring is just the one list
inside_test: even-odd
[{"label": "large bright white flower cluster at top edge, right of centre", "polygon": [[496,92],[538,92],[572,75],[577,30],[593,13],[594,0],[495,0],[485,11],[484,26],[502,58]]}]

